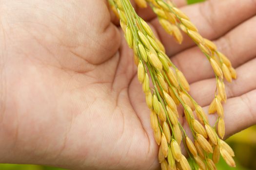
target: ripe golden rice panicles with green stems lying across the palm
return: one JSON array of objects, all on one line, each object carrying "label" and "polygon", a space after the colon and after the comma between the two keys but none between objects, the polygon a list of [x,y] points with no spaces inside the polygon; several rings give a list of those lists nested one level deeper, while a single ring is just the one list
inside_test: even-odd
[{"label": "ripe golden rice panicles with green stems lying across the palm", "polygon": [[[190,86],[185,76],[165,54],[164,46],[149,25],[137,15],[130,1],[109,0],[112,10],[120,19],[127,44],[134,51],[138,81],[142,84],[146,104],[151,111],[150,122],[156,143],[159,145],[158,160],[161,169],[216,170],[215,164],[220,155],[229,166],[235,167],[235,154],[222,140],[225,135],[222,102],[227,100],[223,79],[228,82],[236,79],[236,71],[231,62],[217,50],[212,41],[198,33],[189,17],[170,0],[135,2],[141,8],[149,5],[157,15],[159,24],[179,44],[183,41],[181,32],[191,37],[209,60],[216,76],[215,96],[208,112],[217,113],[218,119],[216,126],[212,127],[202,107],[189,95]],[[193,139],[189,138],[179,122],[178,107],[183,108]],[[188,158],[181,152],[182,142]]]}]

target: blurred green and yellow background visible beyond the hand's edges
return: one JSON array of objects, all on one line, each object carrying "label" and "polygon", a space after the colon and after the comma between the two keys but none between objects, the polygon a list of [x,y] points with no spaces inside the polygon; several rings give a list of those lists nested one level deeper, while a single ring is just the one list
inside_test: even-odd
[{"label": "blurred green and yellow background visible beyond the hand's edges", "polygon": [[[188,0],[188,3],[196,3],[204,0]],[[220,159],[218,170],[256,170],[256,125],[250,127],[226,140],[234,149],[236,168],[230,168]],[[37,165],[0,164],[0,170],[63,170],[59,168]]]}]

